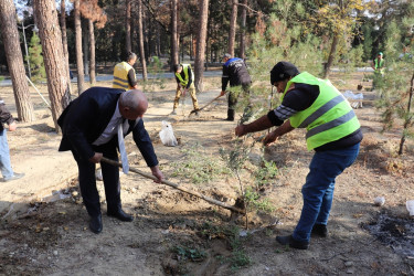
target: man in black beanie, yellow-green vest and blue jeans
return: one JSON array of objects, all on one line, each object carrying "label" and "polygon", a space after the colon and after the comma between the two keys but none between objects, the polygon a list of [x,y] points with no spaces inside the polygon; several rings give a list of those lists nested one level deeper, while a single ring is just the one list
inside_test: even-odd
[{"label": "man in black beanie, yellow-green vest and blue jeans", "polygon": [[328,235],[336,178],[355,160],[362,131],[352,107],[329,81],[279,62],[270,72],[270,83],[283,94],[282,104],[251,124],[238,125],[235,134],[243,136],[278,126],[264,138],[268,146],[295,128],[306,128],[307,148],[315,155],[301,189],[304,206],[294,233],[276,236],[276,241],[307,250],[311,233]]}]

